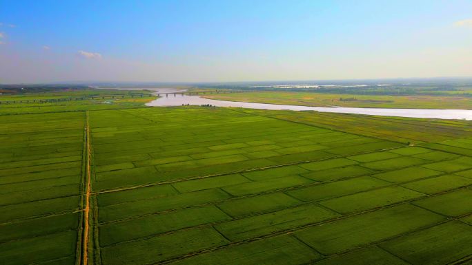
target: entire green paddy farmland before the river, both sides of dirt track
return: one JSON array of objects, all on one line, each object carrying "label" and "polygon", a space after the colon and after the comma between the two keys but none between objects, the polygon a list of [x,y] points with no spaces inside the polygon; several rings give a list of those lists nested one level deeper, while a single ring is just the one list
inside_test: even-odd
[{"label": "entire green paddy farmland before the river, both sides of dirt track", "polygon": [[471,262],[470,122],[113,108],[0,107],[1,264]]}]

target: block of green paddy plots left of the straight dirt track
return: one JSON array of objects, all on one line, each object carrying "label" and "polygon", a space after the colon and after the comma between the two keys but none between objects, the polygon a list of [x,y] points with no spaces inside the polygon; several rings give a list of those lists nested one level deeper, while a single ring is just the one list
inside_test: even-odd
[{"label": "block of green paddy plots left of the straight dirt track", "polygon": [[0,116],[2,264],[75,264],[83,219],[84,115]]}]

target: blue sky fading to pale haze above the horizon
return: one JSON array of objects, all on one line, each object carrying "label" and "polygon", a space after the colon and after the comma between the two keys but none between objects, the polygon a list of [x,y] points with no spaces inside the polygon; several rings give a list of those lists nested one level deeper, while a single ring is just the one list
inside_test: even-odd
[{"label": "blue sky fading to pale haze above the horizon", "polygon": [[472,76],[472,1],[0,0],[0,83]]}]

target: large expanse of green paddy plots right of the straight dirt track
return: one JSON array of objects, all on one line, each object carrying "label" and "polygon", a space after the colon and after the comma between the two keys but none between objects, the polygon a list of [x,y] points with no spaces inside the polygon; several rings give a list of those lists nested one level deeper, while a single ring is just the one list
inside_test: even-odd
[{"label": "large expanse of green paddy plots right of the straight dirt track", "polygon": [[[472,140],[411,147],[297,117],[90,112],[95,262],[449,264],[472,253]],[[423,140],[455,126],[471,137],[460,123],[424,126],[446,132]],[[428,238],[444,244],[417,248]]]}]

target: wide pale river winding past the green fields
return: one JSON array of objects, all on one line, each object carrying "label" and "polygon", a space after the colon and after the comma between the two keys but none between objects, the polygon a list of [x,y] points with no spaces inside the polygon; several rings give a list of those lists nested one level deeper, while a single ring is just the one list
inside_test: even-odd
[{"label": "wide pale river winding past the green fields", "polygon": [[[161,92],[161,91],[159,91]],[[162,91],[161,93],[168,93]],[[161,95],[161,98],[147,103],[152,107],[169,107],[181,105],[206,105],[210,104],[217,107],[244,107],[248,109],[285,109],[294,111],[316,111],[316,112],[335,112],[350,114],[365,114],[377,116],[397,116],[408,118],[442,118],[442,119],[460,119],[472,120],[472,110],[469,109],[382,109],[382,108],[364,108],[364,107],[308,107],[297,105],[277,105],[265,103],[248,103],[226,100],[214,100],[201,98],[199,96],[187,96],[182,94]]]}]

